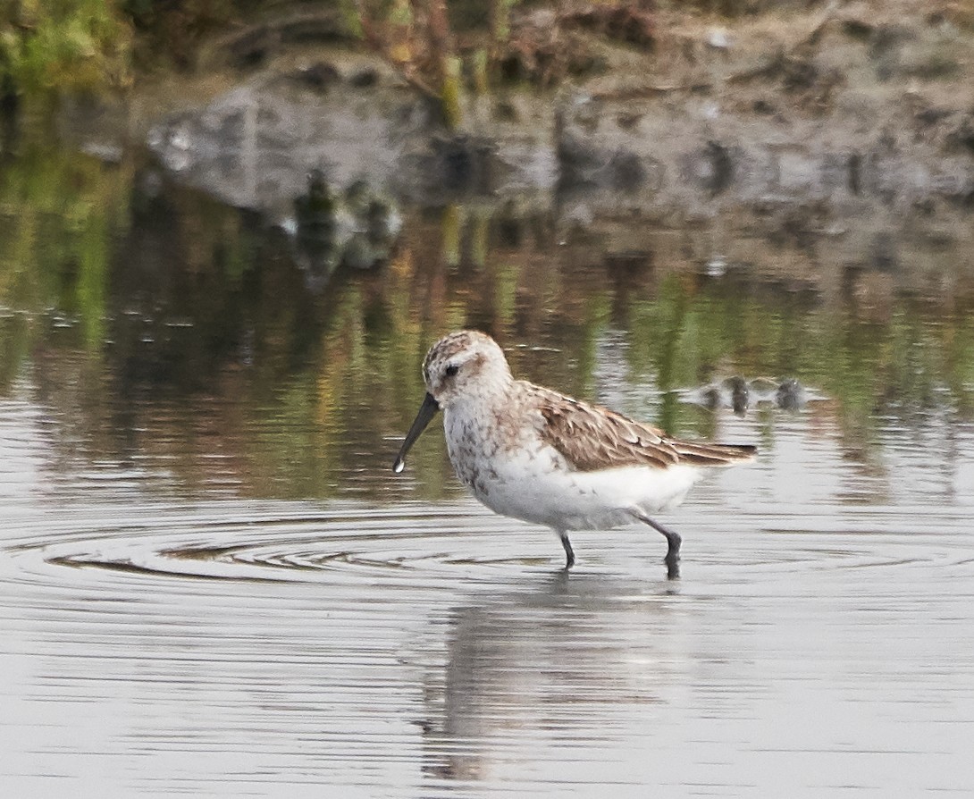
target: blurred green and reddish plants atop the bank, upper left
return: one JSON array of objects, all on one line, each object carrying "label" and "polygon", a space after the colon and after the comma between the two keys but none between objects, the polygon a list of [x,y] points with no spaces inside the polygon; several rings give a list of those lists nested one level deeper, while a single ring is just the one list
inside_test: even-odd
[{"label": "blurred green and reddish plants atop the bank, upper left", "polygon": [[[136,74],[217,62],[257,66],[287,45],[356,41],[436,97],[461,125],[464,95],[498,81],[548,86],[597,66],[577,31],[652,48],[652,3],[518,0],[0,0],[0,89],[50,97],[118,89]],[[535,19],[545,8],[554,14]],[[517,19],[521,19],[520,17]],[[207,38],[208,37],[208,38]],[[201,60],[202,58],[202,60]],[[222,60],[221,60],[222,58]]]}]

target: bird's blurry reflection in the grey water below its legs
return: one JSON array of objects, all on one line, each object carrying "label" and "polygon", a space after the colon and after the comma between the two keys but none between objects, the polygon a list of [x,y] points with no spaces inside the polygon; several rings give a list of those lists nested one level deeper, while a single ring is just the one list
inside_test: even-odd
[{"label": "bird's blurry reflection in the grey water below its legs", "polygon": [[619,714],[652,717],[689,664],[686,605],[673,583],[561,571],[454,609],[424,682],[425,773],[466,782],[539,750],[584,758]]}]

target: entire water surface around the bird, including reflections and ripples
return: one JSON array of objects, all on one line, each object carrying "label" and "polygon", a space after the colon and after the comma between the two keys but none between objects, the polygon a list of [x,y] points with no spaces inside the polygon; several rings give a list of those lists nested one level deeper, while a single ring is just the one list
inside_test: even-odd
[{"label": "entire water surface around the bird, including reflections and ripples", "polygon": [[[974,792],[968,210],[469,200],[363,268],[137,161],[0,171],[5,795]],[[759,444],[664,517],[681,580],[639,528],[565,575],[435,430],[393,476],[463,325]]]}]

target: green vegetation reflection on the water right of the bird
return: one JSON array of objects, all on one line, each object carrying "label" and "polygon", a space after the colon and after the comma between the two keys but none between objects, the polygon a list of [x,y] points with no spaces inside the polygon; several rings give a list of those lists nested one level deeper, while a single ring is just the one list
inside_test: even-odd
[{"label": "green vegetation reflection on the water right of the bird", "polygon": [[964,416],[974,411],[968,315],[942,316],[902,299],[880,323],[817,300],[692,285],[684,277],[664,281],[632,315],[632,368],[656,377],[664,392],[658,422],[667,429],[692,426],[694,411],[666,392],[734,373],[798,377],[839,400],[845,433],[858,445],[874,440],[879,414],[908,420],[948,405]]}]

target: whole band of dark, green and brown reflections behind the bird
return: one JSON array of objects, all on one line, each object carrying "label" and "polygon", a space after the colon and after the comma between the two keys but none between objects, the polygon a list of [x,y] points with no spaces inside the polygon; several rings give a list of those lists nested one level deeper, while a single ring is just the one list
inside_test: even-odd
[{"label": "whole band of dark, green and brown reflections behind the bird", "polygon": [[[588,399],[603,388],[606,342],[627,343],[625,373],[611,375],[632,401],[621,409],[678,434],[720,431],[674,390],[734,374],[794,376],[838,400],[854,448],[881,445],[882,414],[974,416],[962,309],[901,297],[864,320],[812,290],[692,268],[616,284],[590,253],[551,247],[546,222],[501,242],[487,211],[465,208],[413,217],[388,264],[342,265],[316,291],[281,232],[192,192],[132,192],[130,178],[77,156],[9,165],[0,305],[28,313],[0,319],[4,386],[43,359],[43,400],[92,457],[148,453],[190,486],[206,485],[218,452],[247,495],[453,491],[438,426],[405,476],[390,467],[423,397],[427,348],[466,325],[511,348],[516,374]],[[69,337],[49,308],[77,319]],[[60,387],[79,383],[78,349],[90,376],[69,398]]]}]

